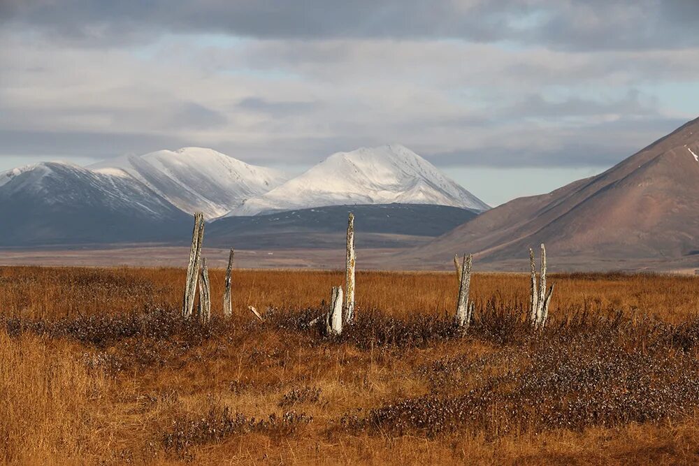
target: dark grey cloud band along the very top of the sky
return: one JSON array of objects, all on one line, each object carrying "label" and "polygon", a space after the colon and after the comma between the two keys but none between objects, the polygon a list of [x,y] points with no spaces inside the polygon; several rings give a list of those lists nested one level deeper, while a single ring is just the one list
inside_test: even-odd
[{"label": "dark grey cloud band along the very top of the sky", "polygon": [[0,18],[82,45],[164,31],[252,38],[452,38],[572,50],[699,45],[694,0],[4,0]]}]

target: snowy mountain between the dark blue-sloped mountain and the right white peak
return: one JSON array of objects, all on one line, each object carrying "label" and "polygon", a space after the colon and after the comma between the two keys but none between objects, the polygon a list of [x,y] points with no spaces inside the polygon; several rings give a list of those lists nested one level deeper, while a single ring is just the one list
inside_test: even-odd
[{"label": "snowy mountain between the dark blue-sloped mountain and the right white peak", "polygon": [[123,156],[89,166],[110,175],[128,173],[185,212],[220,217],[247,198],[278,187],[288,177],[212,149],[183,147]]}]

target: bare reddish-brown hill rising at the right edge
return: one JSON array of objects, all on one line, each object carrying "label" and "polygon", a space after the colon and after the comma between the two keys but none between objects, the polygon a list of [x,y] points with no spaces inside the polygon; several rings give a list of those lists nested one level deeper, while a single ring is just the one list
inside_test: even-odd
[{"label": "bare reddish-brown hill rising at the right edge", "polygon": [[[570,268],[694,267],[699,263],[694,154],[699,155],[699,119],[600,175],[484,212],[415,249],[405,264],[443,265],[455,252],[470,251],[493,268],[526,259],[529,247],[545,242],[554,263]],[[514,268],[520,267],[517,261]]]}]

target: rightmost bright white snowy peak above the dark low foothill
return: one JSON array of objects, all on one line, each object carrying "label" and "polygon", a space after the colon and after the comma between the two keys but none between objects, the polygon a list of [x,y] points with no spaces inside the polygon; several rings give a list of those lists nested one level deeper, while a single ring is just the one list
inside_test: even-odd
[{"label": "rightmost bright white snowy peak above the dark low foothill", "polygon": [[347,204],[489,206],[402,145],[338,152],[307,172],[247,199],[228,216]]}]

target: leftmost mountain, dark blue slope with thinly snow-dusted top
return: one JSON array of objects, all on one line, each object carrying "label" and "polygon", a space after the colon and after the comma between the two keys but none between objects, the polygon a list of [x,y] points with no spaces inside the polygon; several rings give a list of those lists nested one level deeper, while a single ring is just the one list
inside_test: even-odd
[{"label": "leftmost mountain, dark blue slope with thinly snow-dusted top", "polygon": [[68,163],[0,173],[0,244],[75,244],[179,238],[189,215],[130,176]]}]

